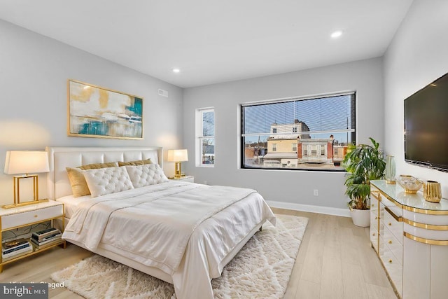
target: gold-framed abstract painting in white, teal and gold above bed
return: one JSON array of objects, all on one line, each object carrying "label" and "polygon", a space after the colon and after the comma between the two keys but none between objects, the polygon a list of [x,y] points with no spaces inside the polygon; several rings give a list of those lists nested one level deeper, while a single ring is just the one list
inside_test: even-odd
[{"label": "gold-framed abstract painting in white, teal and gold above bed", "polygon": [[143,98],[68,81],[68,134],[76,137],[143,139]]}]

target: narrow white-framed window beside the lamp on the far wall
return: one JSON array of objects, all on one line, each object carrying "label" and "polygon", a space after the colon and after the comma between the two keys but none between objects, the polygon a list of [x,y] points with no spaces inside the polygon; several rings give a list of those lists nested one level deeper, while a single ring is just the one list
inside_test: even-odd
[{"label": "narrow white-framed window beside the lamp on the far wall", "polygon": [[215,164],[215,111],[213,108],[196,111],[196,166]]}]

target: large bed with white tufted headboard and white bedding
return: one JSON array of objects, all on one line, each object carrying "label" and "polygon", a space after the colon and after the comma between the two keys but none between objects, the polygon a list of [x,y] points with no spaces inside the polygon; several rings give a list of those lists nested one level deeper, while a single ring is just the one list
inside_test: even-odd
[{"label": "large bed with white tufted headboard and white bedding", "polygon": [[[213,298],[211,279],[221,276],[265,221],[275,224],[274,214],[255,190],[170,181],[164,174],[158,183],[139,186],[136,177],[141,172],[134,170],[149,166],[123,166],[133,173],[130,178],[138,188],[102,195],[104,187],[95,194],[101,196],[73,197],[66,167],[151,159],[157,173],[162,167],[160,147],[46,150],[49,198],[64,202],[64,239],[174,284],[179,299]],[[87,170],[89,187],[102,185],[91,177],[99,173],[104,179],[105,172],[123,167]],[[97,192],[93,189],[92,194]]]}]

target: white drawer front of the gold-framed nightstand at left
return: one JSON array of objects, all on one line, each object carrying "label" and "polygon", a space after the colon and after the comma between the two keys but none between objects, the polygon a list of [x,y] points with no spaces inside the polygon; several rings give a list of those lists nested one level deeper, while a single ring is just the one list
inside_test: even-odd
[{"label": "white drawer front of the gold-framed nightstand at left", "polygon": [[1,229],[6,230],[8,228],[27,225],[28,223],[60,217],[64,215],[63,209],[64,205],[58,204],[53,207],[46,207],[45,209],[35,209],[32,211],[25,211],[23,213],[6,215],[1,217]]}]

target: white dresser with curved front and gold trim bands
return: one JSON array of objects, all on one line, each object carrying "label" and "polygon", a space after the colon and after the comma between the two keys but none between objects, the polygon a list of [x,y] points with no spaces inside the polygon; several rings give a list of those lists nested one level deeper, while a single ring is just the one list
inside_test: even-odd
[{"label": "white dresser with curved front and gold trim bands", "polygon": [[375,180],[370,240],[400,298],[448,298],[448,200]]}]

